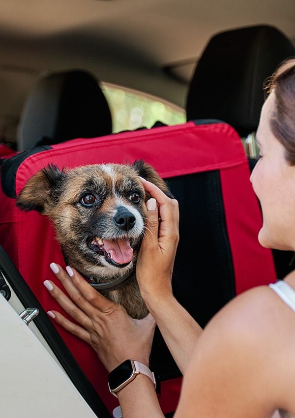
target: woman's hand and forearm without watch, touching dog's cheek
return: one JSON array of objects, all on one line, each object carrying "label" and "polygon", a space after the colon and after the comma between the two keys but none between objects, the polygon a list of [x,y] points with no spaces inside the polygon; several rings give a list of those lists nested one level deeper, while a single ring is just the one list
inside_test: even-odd
[{"label": "woman's hand and forearm without watch, touching dog's cheek", "polygon": [[157,205],[154,202],[148,210],[146,235],[137,261],[136,276],[148,310],[184,373],[202,328],[177,302],[172,292],[171,279],[178,243],[178,204],[153,183],[144,180],[143,184]]}]

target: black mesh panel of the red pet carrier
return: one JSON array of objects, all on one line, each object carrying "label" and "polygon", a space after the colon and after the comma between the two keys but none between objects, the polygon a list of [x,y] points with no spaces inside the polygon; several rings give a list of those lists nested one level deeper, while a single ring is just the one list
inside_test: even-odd
[{"label": "black mesh panel of the red pet carrier", "polygon": [[[204,327],[236,295],[219,172],[182,176],[167,182],[180,211],[173,291]],[[160,380],[180,376],[158,329],[151,366]]]}]

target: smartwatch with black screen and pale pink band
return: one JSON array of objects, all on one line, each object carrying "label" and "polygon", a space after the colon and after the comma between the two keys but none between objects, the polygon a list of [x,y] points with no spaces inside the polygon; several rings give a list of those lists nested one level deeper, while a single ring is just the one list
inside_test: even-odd
[{"label": "smartwatch with black screen and pale pink band", "polygon": [[145,364],[136,360],[125,360],[109,374],[110,392],[118,397],[117,392],[132,382],[138,374],[148,376],[156,387],[154,374]]}]

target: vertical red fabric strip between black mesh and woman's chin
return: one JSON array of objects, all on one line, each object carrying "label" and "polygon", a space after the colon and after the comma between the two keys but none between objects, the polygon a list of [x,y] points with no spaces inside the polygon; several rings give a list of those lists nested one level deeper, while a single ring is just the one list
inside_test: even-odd
[{"label": "vertical red fabric strip between black mesh and woman's chin", "polygon": [[271,251],[262,247],[257,239],[262,215],[250,182],[248,163],[221,170],[220,178],[236,294],[257,285],[274,283],[277,278]]}]

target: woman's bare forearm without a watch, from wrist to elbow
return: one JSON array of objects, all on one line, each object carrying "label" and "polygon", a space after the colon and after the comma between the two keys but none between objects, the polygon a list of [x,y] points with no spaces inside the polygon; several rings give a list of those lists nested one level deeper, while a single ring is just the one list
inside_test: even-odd
[{"label": "woman's bare forearm without a watch, from wrist to elbow", "polygon": [[145,300],[181,373],[185,372],[202,328],[174,296]]}]

